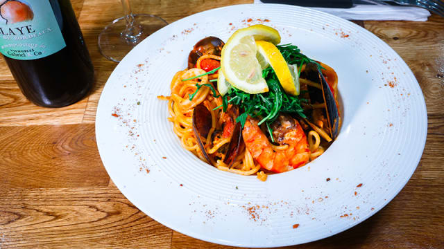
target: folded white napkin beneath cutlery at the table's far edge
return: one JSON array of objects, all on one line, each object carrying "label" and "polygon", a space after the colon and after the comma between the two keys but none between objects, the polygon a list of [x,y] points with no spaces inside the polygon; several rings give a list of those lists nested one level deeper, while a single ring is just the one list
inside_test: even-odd
[{"label": "folded white napkin beneath cutlery at the table's far edge", "polygon": [[[255,0],[255,3],[262,3]],[[348,20],[427,21],[430,12],[419,7],[355,4],[352,8],[312,8]]]}]

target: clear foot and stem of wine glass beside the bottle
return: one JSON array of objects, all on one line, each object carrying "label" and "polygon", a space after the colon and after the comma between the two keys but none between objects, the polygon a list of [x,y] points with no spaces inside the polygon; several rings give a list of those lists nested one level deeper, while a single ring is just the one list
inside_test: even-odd
[{"label": "clear foot and stem of wine glass beside the bottle", "polygon": [[99,35],[100,53],[113,62],[120,62],[131,49],[168,23],[160,17],[133,14],[130,0],[121,0],[124,17],[112,21]]}]

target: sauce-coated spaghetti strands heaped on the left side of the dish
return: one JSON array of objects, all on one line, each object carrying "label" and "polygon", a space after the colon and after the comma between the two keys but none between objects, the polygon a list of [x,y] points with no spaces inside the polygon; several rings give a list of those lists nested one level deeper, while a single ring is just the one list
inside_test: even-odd
[{"label": "sauce-coated spaghetti strands heaped on the left side of the dish", "polygon": [[[193,109],[198,104],[203,103],[212,115],[212,127],[205,141],[205,149],[207,149],[208,154],[216,154],[218,149],[230,142],[230,138],[218,140],[214,143],[214,145],[212,145],[211,142],[214,131],[216,129],[221,129],[223,126],[223,111],[220,108],[215,109],[222,104],[221,98],[214,98],[210,88],[207,86],[202,86],[200,87],[199,91],[197,91],[196,95],[194,95],[193,100],[189,100],[189,95],[193,94],[197,89],[196,84],[211,84],[211,82],[209,82],[209,77],[205,75],[202,77],[197,77],[193,80],[182,81],[205,73],[205,71],[199,67],[202,59],[208,58],[218,60],[221,59],[221,57],[215,55],[203,55],[196,63],[197,68],[178,71],[178,73],[174,75],[173,80],[171,80],[171,98],[166,98],[169,100],[169,120],[173,122],[174,133],[176,133],[176,135],[180,138],[182,147],[191,151],[201,160],[205,160],[205,157],[198,147],[198,142],[194,136],[192,127]],[[254,162],[253,157],[250,155],[250,153],[248,153],[248,150],[246,150],[245,147],[241,149],[231,168],[225,165],[222,160],[217,160],[214,166],[227,172],[242,175],[255,174],[260,169],[260,165]]]}]

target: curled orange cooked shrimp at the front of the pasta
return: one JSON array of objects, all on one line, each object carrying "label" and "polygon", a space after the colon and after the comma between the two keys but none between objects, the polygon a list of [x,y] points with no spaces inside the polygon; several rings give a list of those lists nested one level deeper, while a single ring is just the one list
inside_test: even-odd
[{"label": "curled orange cooked shrimp at the front of the pasta", "polygon": [[281,115],[271,124],[271,128],[275,141],[286,145],[284,149],[273,149],[255,118],[248,117],[242,131],[246,148],[261,167],[280,173],[308,163],[310,150],[307,136],[297,120]]}]

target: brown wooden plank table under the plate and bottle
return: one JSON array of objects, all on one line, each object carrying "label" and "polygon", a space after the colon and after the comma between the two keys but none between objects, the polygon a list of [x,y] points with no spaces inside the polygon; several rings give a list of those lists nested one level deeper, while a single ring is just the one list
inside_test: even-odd
[{"label": "brown wooden plank table under the plate and bottle", "polygon": [[[60,109],[36,107],[0,59],[0,248],[228,248],[175,232],[140,212],[110,181],[94,133],[96,106],[116,66],[96,45],[120,17],[118,0],[72,0],[95,70],[94,91]],[[134,1],[168,22],[251,0]],[[365,21],[409,64],[425,95],[424,154],[404,190],[355,228],[292,248],[444,248],[444,18]]]}]

